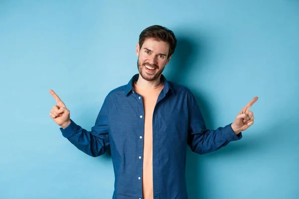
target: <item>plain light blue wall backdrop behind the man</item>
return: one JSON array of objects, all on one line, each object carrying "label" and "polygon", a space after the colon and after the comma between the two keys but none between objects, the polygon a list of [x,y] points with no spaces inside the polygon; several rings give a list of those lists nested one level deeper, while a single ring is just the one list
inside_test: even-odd
[{"label": "plain light blue wall backdrop behind the man", "polygon": [[90,130],[153,24],[174,31],[164,75],[194,92],[209,128],[259,97],[242,140],[188,150],[189,198],[299,198],[299,0],[0,0],[0,199],[112,198],[110,155],[62,137],[48,91]]}]

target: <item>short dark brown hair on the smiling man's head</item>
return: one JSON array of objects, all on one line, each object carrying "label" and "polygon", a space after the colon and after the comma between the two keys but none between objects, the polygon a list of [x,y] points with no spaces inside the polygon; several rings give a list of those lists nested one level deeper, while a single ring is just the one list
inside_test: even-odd
[{"label": "short dark brown hair on the smiling man's head", "polygon": [[149,38],[169,43],[170,47],[167,58],[169,58],[174,53],[176,47],[176,38],[171,30],[160,25],[152,25],[147,27],[139,35],[140,48],[142,47],[145,40]]}]

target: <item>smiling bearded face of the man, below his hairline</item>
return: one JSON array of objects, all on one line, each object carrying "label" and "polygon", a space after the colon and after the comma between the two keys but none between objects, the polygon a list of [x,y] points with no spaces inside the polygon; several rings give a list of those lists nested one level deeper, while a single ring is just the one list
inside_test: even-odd
[{"label": "smiling bearded face of the man, below his hairline", "polygon": [[136,48],[137,67],[141,77],[147,81],[159,78],[171,58],[167,59],[168,53],[169,44],[167,42],[149,38],[143,43],[141,49],[138,43]]}]

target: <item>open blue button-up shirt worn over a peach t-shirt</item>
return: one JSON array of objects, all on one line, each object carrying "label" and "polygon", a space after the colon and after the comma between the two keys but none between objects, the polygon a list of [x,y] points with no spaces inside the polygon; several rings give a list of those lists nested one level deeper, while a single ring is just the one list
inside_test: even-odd
[{"label": "open blue button-up shirt worn over a peach t-shirt", "polygon": [[[91,131],[73,120],[62,135],[84,153],[96,157],[111,148],[115,174],[113,199],[142,199],[145,111],[143,98],[133,89],[135,75],[127,85],[111,91],[104,100]],[[152,118],[154,199],[188,199],[185,164],[187,145],[198,154],[215,151],[239,140],[231,124],[206,129],[189,89],[168,82],[162,75]]]}]

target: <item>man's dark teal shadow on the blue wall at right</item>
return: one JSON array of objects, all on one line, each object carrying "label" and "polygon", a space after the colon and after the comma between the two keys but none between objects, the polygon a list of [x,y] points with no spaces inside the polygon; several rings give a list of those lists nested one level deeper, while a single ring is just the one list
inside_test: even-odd
[{"label": "man's dark teal shadow on the blue wall at right", "polygon": [[[198,35],[198,34],[193,34]],[[200,37],[200,36],[198,36]],[[194,66],[192,61],[196,58],[197,63],[201,63],[201,60],[205,59],[207,56],[207,48],[205,43],[196,43],[200,41],[200,38],[190,38],[190,36],[184,36],[183,34],[177,37],[177,48],[175,50],[175,54],[172,57],[171,71],[170,76],[166,78],[169,81],[176,82],[178,84],[182,84],[183,80],[188,78],[188,74],[192,73],[194,67],[205,67],[205,66]],[[210,56],[213,57],[213,56]],[[199,70],[196,70],[197,72]],[[198,80],[200,77],[203,77],[204,74],[198,74]],[[206,123],[206,127],[211,129],[214,125],[211,116],[209,115],[210,105],[207,96],[204,96],[200,93],[200,90],[196,88],[196,85],[192,85],[189,89],[192,91],[195,96],[197,103],[200,107],[201,113]],[[261,101],[261,100],[260,100]],[[244,104],[245,105],[245,104]],[[241,109],[242,107],[240,107]],[[237,114],[238,112],[236,112]],[[232,118],[232,122],[235,118]],[[285,124],[284,124],[285,125]],[[188,190],[188,197],[190,199],[207,199],[209,196],[208,193],[205,193],[204,187],[208,182],[206,179],[205,171],[203,170],[203,166],[201,162],[205,159],[214,159],[219,158],[221,156],[234,156],[242,154],[252,154],[252,153],[260,153],[263,148],[265,148],[265,140],[267,140],[267,147],[273,147],[273,145],[277,145],[281,139],[283,139],[283,134],[281,133],[279,126],[283,126],[283,124],[277,124],[275,126],[270,127],[269,129],[264,129],[260,135],[257,136],[248,136],[246,140],[243,138],[242,143],[235,142],[234,144],[228,144],[227,146],[219,149],[218,151],[208,153],[206,155],[199,155],[192,152],[188,147],[187,150],[187,158],[186,158],[186,183]],[[286,126],[286,125],[285,125]],[[218,127],[218,126],[217,126]],[[267,128],[267,127],[265,127]],[[247,132],[243,132],[243,136],[246,136]]]}]

